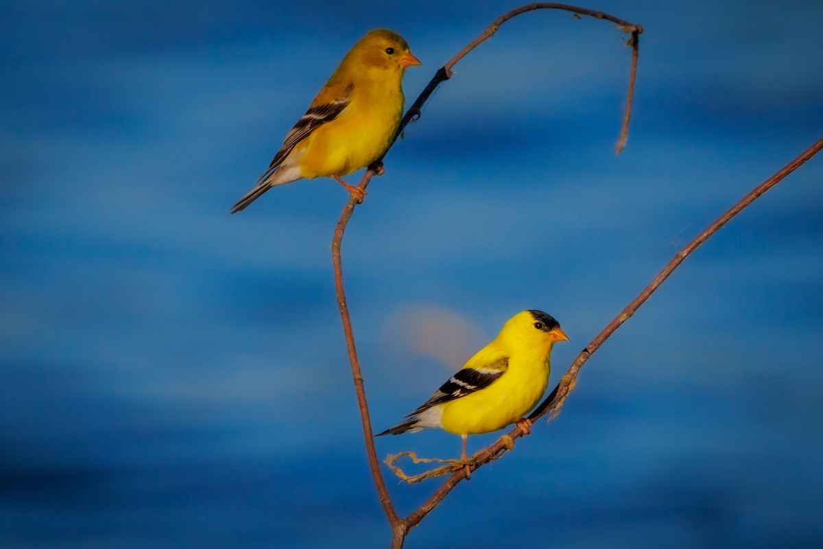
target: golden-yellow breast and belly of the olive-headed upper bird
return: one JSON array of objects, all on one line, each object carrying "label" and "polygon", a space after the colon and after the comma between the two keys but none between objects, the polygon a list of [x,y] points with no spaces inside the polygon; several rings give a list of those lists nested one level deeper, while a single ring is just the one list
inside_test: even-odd
[{"label": "golden-yellow breast and belly of the olive-headed upper bird", "polygon": [[355,86],[351,104],[305,140],[303,177],[351,174],[386,151],[402,117],[400,75]]}]

